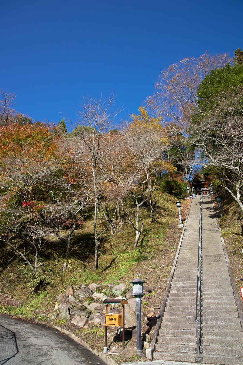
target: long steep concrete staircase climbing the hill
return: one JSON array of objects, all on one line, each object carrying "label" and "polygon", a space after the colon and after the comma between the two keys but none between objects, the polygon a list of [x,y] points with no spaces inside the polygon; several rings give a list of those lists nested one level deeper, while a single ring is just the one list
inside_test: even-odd
[{"label": "long steep concrete staircase climbing the hill", "polygon": [[153,356],[164,361],[243,365],[242,326],[211,196],[203,197],[202,297],[198,306],[201,339],[197,354],[199,212],[197,197],[189,211]]}]

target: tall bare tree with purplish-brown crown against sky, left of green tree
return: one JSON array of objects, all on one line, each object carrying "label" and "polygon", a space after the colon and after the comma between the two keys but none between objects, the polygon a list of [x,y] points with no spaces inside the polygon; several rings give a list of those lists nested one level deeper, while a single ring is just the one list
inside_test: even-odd
[{"label": "tall bare tree with purplish-brown crown against sky, left of green tree", "polygon": [[150,113],[166,127],[174,157],[179,158],[176,164],[179,162],[187,181],[192,180],[197,166],[197,152],[188,141],[191,118],[197,108],[197,88],[211,70],[227,63],[232,63],[227,54],[210,55],[207,51],[197,59],[184,58],[161,72],[156,92],[146,101]]}]

